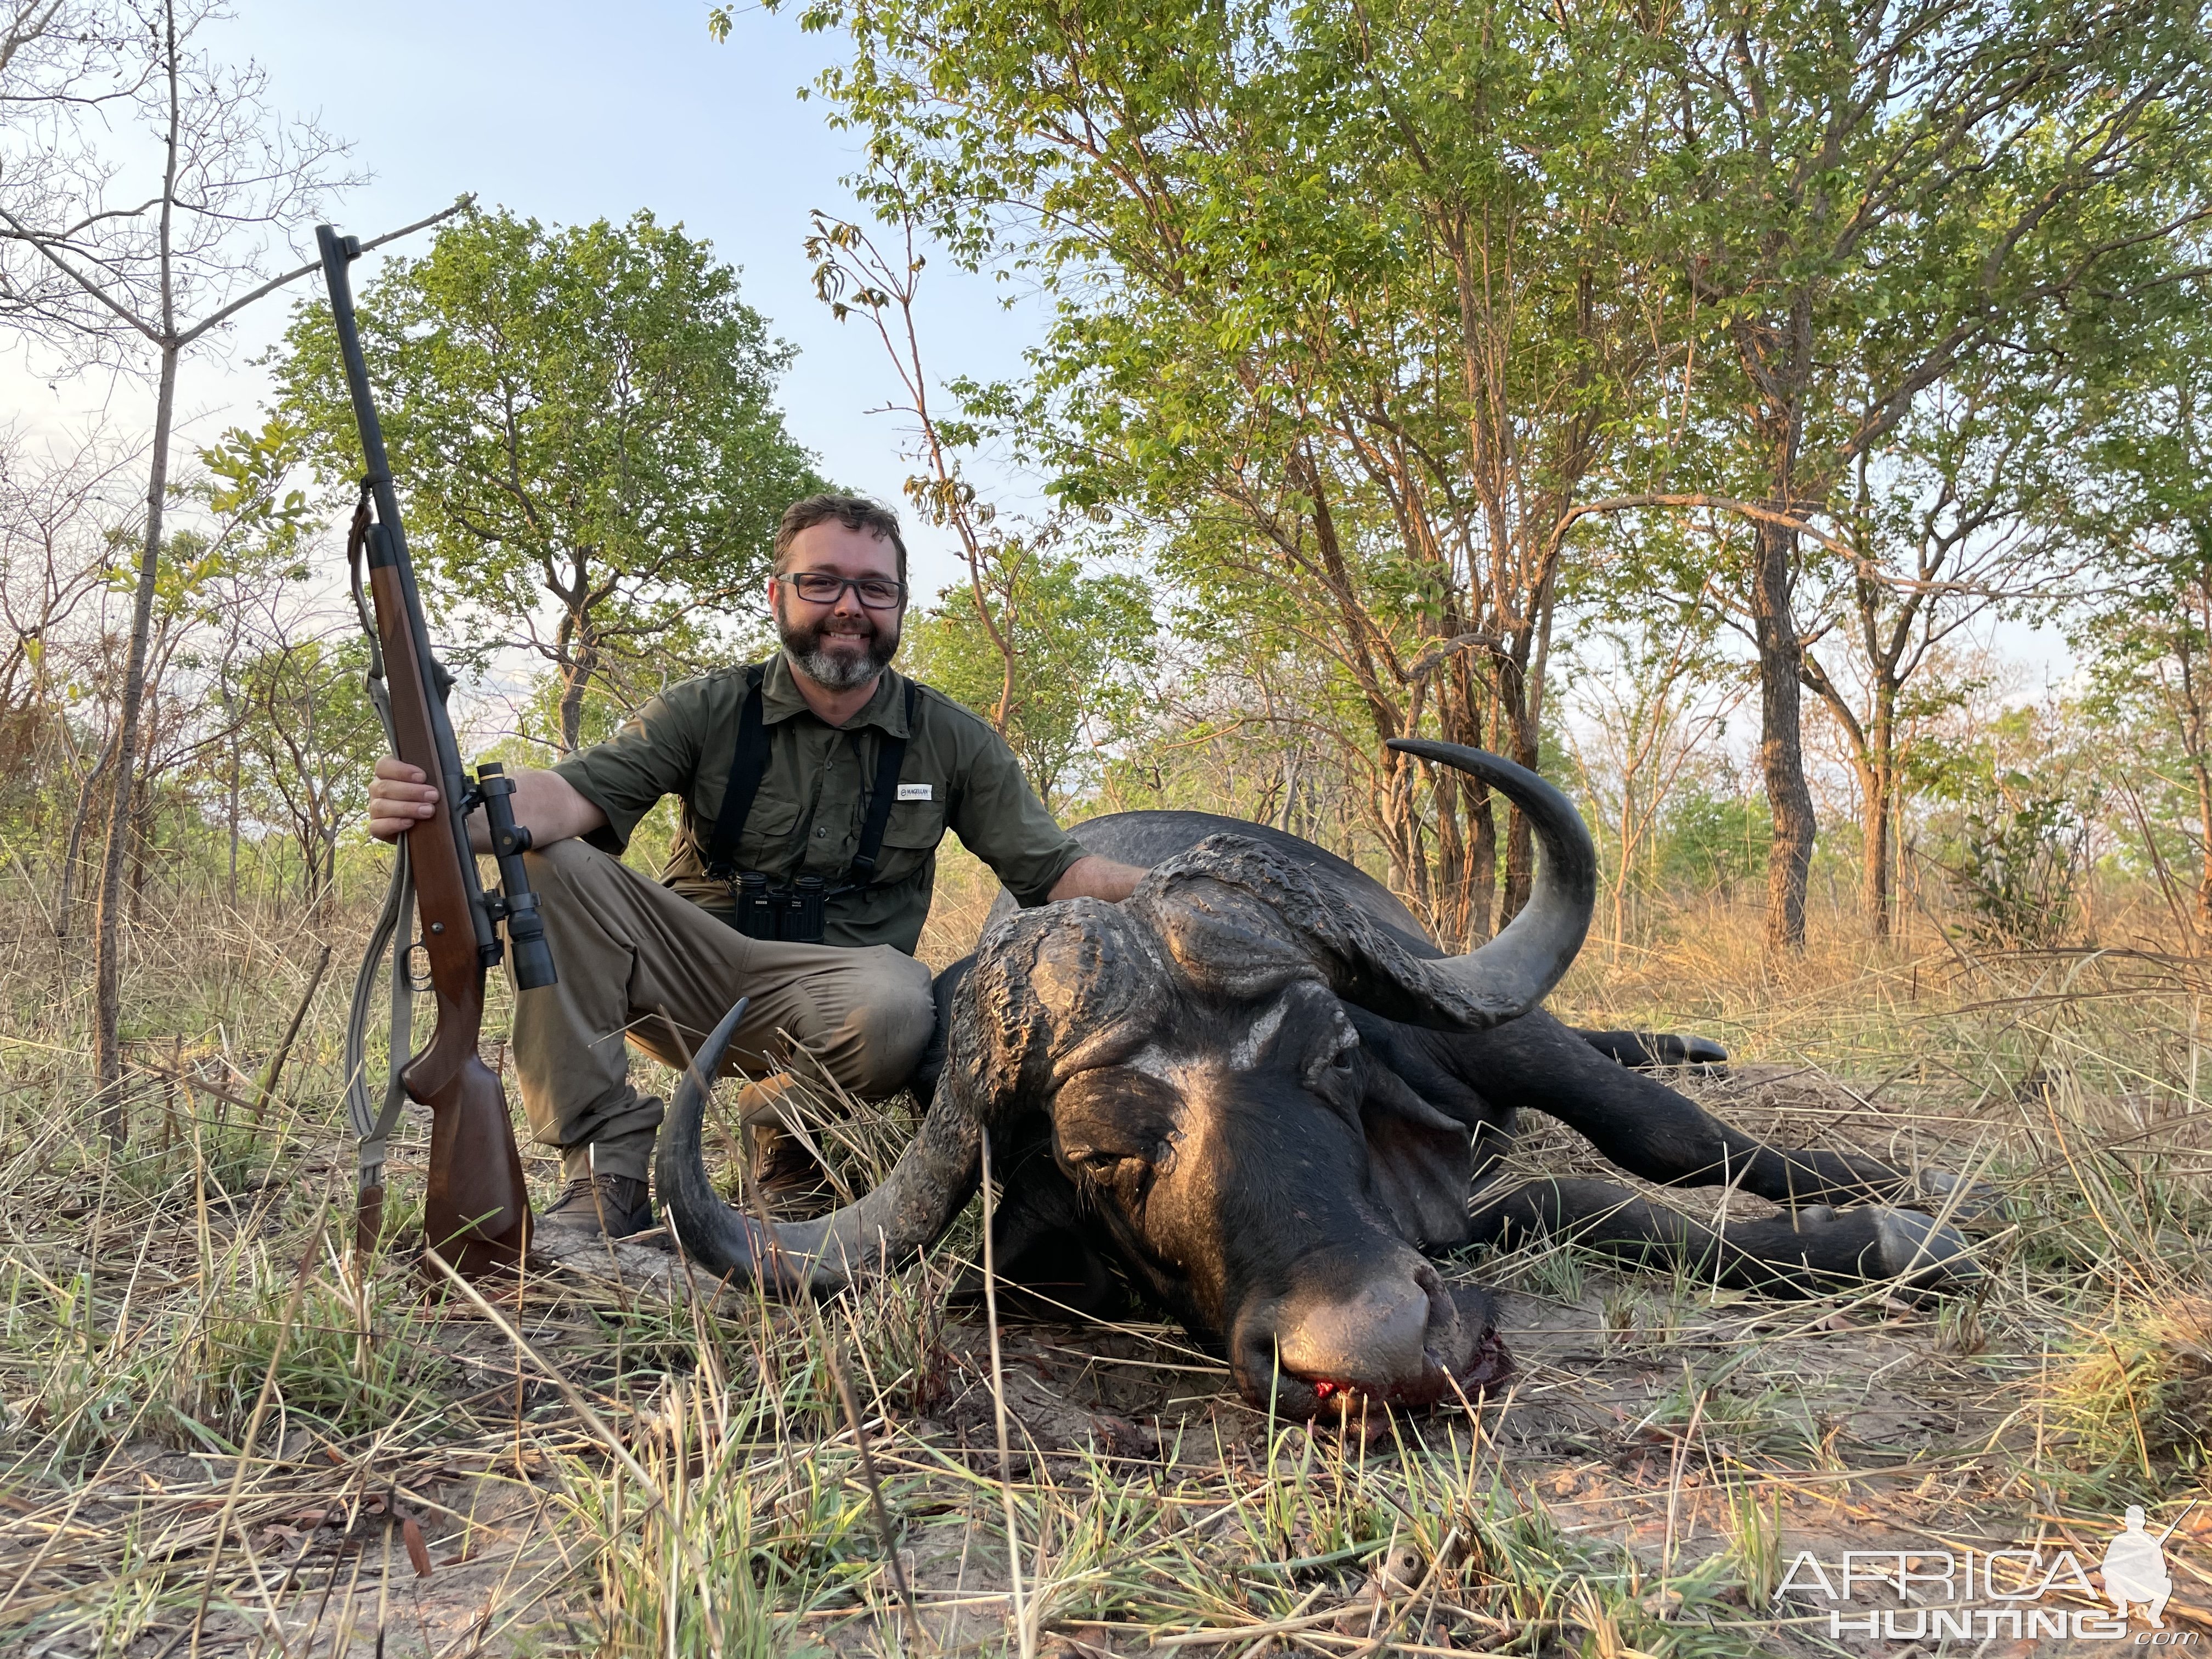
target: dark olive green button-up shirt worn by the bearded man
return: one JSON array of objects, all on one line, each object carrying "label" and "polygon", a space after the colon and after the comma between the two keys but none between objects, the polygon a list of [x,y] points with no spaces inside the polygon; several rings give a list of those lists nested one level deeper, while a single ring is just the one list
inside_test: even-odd
[{"label": "dark olive green button-up shirt worn by the bearded man", "polygon": [[[664,794],[684,803],[666,885],[728,916],[737,896],[706,874],[706,849],[721,814],[721,792],[737,752],[745,706],[745,668],[717,668],[686,679],[646,703],[606,743],[571,754],[553,770],[606,814],[588,841],[619,854],[637,821]],[[885,672],[867,708],[830,726],[799,695],[779,653],[761,681],[768,728],[768,772],[752,796],[737,867],[772,883],[821,876],[845,880],[860,849],[867,796],[876,783],[876,748],[885,734],[907,739],[898,801],[883,832],[876,880],[830,898],[823,942],[896,945],[911,953],[929,918],[938,841],[951,830],[991,865],[1022,905],[1042,905],[1082,847],[1044,810],[1004,739],[942,692],[920,686],[914,730],[907,730],[907,681]]]}]

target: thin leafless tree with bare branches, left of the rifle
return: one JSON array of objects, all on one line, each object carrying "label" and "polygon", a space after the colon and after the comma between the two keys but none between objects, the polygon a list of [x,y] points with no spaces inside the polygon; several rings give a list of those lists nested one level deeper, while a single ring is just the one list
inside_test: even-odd
[{"label": "thin leafless tree with bare branches, left of the rifle", "polygon": [[221,20],[212,0],[44,0],[0,18],[7,345],[35,341],[49,363],[153,383],[93,922],[93,1051],[115,1139],[124,1135],[119,905],[137,836],[177,378],[201,341],[314,272],[279,250],[347,184],[343,146],[312,122],[285,119],[252,60],[226,60]]}]

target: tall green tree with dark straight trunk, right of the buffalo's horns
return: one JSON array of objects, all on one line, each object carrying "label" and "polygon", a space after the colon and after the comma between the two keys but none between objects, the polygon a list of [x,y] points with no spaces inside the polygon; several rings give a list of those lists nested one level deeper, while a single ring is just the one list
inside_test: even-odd
[{"label": "tall green tree with dark straight trunk, right of the buffalo's horns", "polygon": [[1750,526],[1721,580],[1759,650],[1767,942],[1796,949],[1816,832],[1803,641],[1825,624],[1801,582],[1863,553],[1814,520],[1849,515],[1856,467],[1924,394],[1997,358],[2048,383],[2024,343],[2163,281],[2143,250],[2208,204],[2212,31],[2168,0],[1728,0],[1663,29],[1659,188],[1701,319],[1692,436],[1712,440],[1674,498],[1710,489]]}]

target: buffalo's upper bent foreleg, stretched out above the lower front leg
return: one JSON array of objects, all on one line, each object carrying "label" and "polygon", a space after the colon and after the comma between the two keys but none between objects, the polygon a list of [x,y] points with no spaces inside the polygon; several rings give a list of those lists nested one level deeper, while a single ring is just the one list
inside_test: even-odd
[{"label": "buffalo's upper bent foreleg, stretched out above the lower front leg", "polygon": [[1557,1117],[1608,1164],[1659,1186],[1728,1183],[1790,1206],[1929,1197],[1920,1179],[1880,1159],[1765,1146],[1688,1095],[1615,1064],[1548,1013],[1438,1042],[1451,1044],[1451,1071],[1493,1106]]}]

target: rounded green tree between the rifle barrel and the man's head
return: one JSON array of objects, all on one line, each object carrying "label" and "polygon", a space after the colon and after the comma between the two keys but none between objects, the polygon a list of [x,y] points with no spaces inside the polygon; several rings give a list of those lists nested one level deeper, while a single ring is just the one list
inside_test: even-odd
[{"label": "rounded green tree between the rifle barrel and the man's head", "polygon": [[[619,695],[750,597],[776,515],[823,487],[774,405],[792,349],[650,212],[471,212],[363,290],[361,336],[425,597],[546,661],[564,752],[595,686]],[[323,307],[299,307],[274,367],[319,473],[358,476]]]}]

